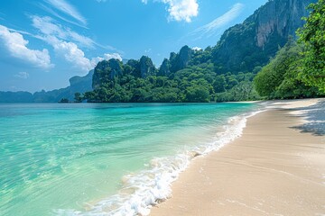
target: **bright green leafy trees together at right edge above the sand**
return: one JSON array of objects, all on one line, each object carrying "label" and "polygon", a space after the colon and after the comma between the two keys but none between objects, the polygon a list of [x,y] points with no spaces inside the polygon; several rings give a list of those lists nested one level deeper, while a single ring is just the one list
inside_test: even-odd
[{"label": "bright green leafy trees together at right edge above the sand", "polygon": [[309,6],[311,14],[293,40],[255,77],[255,89],[265,98],[303,98],[325,95],[325,6]]}]

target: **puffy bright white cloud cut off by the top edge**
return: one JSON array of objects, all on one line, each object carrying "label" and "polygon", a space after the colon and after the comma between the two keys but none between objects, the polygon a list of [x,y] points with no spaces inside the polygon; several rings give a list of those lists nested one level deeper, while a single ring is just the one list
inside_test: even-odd
[{"label": "puffy bright white cloud cut off by the top edge", "polygon": [[[162,2],[167,4],[167,11],[169,13],[169,21],[185,21],[191,22],[193,17],[199,14],[199,4],[197,0],[153,0],[154,2]],[[148,0],[142,0],[144,4],[148,3]]]}]

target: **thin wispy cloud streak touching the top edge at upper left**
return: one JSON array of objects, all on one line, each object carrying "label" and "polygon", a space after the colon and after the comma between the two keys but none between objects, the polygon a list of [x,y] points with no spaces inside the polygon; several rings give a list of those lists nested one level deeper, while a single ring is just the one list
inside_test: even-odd
[{"label": "thin wispy cloud streak touching the top edge at upper left", "polygon": [[56,8],[61,13],[70,15],[75,20],[79,21],[79,23],[82,23],[84,25],[87,25],[86,19],[79,14],[79,11],[72,5],[69,4],[65,0],[46,0],[48,4],[51,4],[52,7]]}]

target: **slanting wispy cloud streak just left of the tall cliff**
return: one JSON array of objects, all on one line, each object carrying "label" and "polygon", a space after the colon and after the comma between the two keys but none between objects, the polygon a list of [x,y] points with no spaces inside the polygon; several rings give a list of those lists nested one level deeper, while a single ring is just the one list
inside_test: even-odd
[{"label": "slanting wispy cloud streak just left of the tall cliff", "polygon": [[204,35],[206,35],[207,37],[215,35],[221,27],[224,27],[228,23],[235,20],[237,16],[243,11],[243,9],[244,4],[234,4],[227,13],[219,16],[211,23],[203,25],[199,29],[193,31],[192,34],[200,33],[200,37]]}]

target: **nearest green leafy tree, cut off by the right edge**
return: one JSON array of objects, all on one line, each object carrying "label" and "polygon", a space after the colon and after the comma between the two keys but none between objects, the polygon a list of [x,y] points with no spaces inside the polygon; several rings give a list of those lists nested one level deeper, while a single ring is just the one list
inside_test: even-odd
[{"label": "nearest green leafy tree, cut off by the right edge", "polygon": [[297,31],[306,48],[299,76],[307,85],[317,86],[325,93],[325,0],[310,4],[308,9],[311,14]]}]

